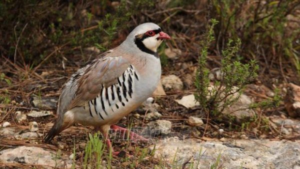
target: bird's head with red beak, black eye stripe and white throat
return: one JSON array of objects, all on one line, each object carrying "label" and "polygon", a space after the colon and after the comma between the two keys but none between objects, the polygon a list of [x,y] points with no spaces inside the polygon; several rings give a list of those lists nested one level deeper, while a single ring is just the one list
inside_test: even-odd
[{"label": "bird's head with red beak, black eye stripe and white throat", "polygon": [[155,54],[163,39],[170,39],[170,36],[155,23],[143,23],[136,26],[128,35],[130,40],[143,52]]}]

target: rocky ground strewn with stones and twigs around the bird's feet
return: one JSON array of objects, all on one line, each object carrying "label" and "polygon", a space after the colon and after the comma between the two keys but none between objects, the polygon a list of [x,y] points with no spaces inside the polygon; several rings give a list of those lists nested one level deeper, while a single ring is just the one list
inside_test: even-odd
[{"label": "rocky ground strewn with stones and twigs around the bird's feet", "polygon": [[[250,132],[230,131],[222,124],[207,124],[204,117],[195,113],[180,114],[183,111],[196,110],[198,103],[194,102],[194,96],[188,93],[176,96],[177,99],[163,96],[165,90],[182,90],[183,82],[175,75],[162,77],[161,83],[154,93],[156,96],[160,95],[159,97],[148,98],[139,109],[120,121],[120,125],[126,126],[134,119],[133,129],[139,128],[138,132],[141,135],[152,139],[152,142],[146,145],[133,144],[133,147],[141,146],[149,151],[155,150],[152,158],[156,163],[148,161],[143,164],[145,166],[141,166],[300,169],[300,121],[290,118],[290,114],[297,116],[297,92],[300,91],[298,86],[290,84],[286,89],[287,113],[279,111],[279,114],[265,117],[269,130],[268,133],[264,133],[255,128],[249,129]],[[253,88],[270,97],[273,95],[271,91],[266,91],[264,86],[250,85],[246,94],[242,94],[239,101],[228,107],[224,113],[234,112],[233,116],[237,121],[257,115],[254,110],[240,110],[253,102],[253,97],[249,94]],[[164,106],[170,99],[174,106]],[[56,97],[33,97],[33,108],[30,111],[9,114],[9,120],[0,124],[1,167],[71,168],[73,165],[80,168],[87,142],[86,135],[93,132],[92,128],[76,125],[62,132],[52,144],[42,142],[45,132],[53,125],[56,102]],[[21,106],[21,103],[12,104]],[[1,112],[1,115],[6,116],[5,112]],[[203,132],[208,132],[208,135],[203,136]],[[123,146],[124,144],[116,144],[117,149]],[[78,162],[74,163],[74,159]],[[147,163],[152,164],[149,167]],[[115,161],[114,165],[119,168],[124,167],[123,164]],[[126,165],[125,167],[128,167]]]}]

